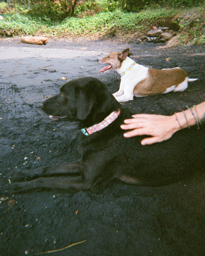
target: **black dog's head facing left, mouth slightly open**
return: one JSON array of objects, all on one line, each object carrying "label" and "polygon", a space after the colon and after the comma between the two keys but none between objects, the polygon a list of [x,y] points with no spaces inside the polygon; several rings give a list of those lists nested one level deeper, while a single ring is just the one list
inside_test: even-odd
[{"label": "black dog's head facing left, mouth slightly open", "polygon": [[42,110],[53,120],[66,118],[93,125],[119,107],[104,83],[93,77],[82,77],[62,86],[59,94],[43,102]]}]

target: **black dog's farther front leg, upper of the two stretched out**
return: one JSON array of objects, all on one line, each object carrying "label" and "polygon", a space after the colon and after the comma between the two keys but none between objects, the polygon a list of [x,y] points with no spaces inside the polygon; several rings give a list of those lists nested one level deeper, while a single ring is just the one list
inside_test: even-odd
[{"label": "black dog's farther front leg, upper of the two stretched out", "polygon": [[58,175],[73,175],[81,173],[81,161],[72,163],[62,163],[54,166],[43,166],[33,170],[13,171],[8,174],[11,182],[30,181],[40,177],[58,176]]}]

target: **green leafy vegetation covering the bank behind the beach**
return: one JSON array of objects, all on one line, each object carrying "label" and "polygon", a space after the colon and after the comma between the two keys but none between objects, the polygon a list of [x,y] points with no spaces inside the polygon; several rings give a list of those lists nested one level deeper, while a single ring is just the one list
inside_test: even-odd
[{"label": "green leafy vegetation covering the bank behind the beach", "polygon": [[[177,3],[181,8],[166,7],[169,1],[170,5]],[[0,2],[0,15],[3,17],[0,20],[0,37],[96,36],[130,40],[143,35],[153,25],[175,24],[180,28],[182,43],[205,44],[205,3],[200,0],[167,0],[166,3],[165,0],[156,0],[155,4],[151,0],[142,0],[140,11],[136,0],[84,0],[76,4],[72,15],[69,6],[67,11],[62,8],[62,2],[47,0],[45,6],[45,3],[33,0],[30,9],[28,2],[24,5],[16,2],[10,6]],[[193,2],[199,7],[190,7]]]}]

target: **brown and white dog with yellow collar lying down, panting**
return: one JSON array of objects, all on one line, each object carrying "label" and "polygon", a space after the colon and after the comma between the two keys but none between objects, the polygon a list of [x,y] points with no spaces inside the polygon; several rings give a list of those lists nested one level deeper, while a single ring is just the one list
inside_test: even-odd
[{"label": "brown and white dog with yellow collar lying down, panting", "polygon": [[122,52],[112,52],[107,57],[98,59],[100,64],[109,64],[99,72],[116,70],[121,75],[119,91],[114,93],[118,102],[133,100],[133,97],[143,97],[160,93],[182,92],[188,87],[187,72],[181,68],[154,70],[137,64],[132,60],[129,48]]}]

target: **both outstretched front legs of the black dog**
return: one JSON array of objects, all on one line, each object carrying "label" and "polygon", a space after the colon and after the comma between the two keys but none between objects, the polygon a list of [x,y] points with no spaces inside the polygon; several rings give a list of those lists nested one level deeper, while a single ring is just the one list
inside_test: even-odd
[{"label": "both outstretched front legs of the black dog", "polygon": [[88,190],[91,188],[93,179],[92,176],[85,177],[84,173],[81,162],[20,171],[10,177],[10,183],[1,186],[0,190],[9,194],[33,189],[62,189],[68,192]]}]

